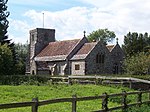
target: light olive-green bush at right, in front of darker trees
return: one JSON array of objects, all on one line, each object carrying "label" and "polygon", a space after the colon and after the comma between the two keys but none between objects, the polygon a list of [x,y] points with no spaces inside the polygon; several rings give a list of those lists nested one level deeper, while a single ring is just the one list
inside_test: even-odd
[{"label": "light olive-green bush at right, in front of darker trees", "polygon": [[128,74],[147,74],[150,69],[150,55],[141,52],[128,57],[124,61],[124,68]]}]

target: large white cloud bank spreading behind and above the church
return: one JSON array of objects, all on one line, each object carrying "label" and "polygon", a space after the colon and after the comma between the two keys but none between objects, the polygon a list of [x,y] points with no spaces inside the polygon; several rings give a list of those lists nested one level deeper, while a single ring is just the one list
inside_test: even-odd
[{"label": "large white cloud bank spreading behind and above the church", "polygon": [[24,14],[30,21],[16,20],[12,25],[16,31],[19,29],[27,36],[27,31],[31,28],[42,27],[44,12],[45,28],[56,29],[57,40],[82,38],[84,30],[89,34],[99,28],[114,31],[120,43],[123,43],[123,37],[129,31],[150,33],[149,0],[80,1],[91,4],[93,7],[73,7],[56,12],[30,10]]}]

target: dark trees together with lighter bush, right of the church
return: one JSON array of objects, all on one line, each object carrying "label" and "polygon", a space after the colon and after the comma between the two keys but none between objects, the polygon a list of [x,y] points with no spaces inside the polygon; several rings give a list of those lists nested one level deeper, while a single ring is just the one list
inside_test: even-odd
[{"label": "dark trees together with lighter bush, right of the church", "polygon": [[126,54],[124,70],[127,74],[150,74],[150,35],[128,33],[122,46]]}]

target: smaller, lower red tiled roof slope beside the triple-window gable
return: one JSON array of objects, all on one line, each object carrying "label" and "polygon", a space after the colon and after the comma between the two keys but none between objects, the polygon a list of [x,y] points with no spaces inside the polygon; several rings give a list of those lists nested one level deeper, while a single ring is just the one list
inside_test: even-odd
[{"label": "smaller, lower red tiled roof slope beside the triple-window gable", "polygon": [[76,55],[88,54],[96,44],[97,42],[85,43]]}]

